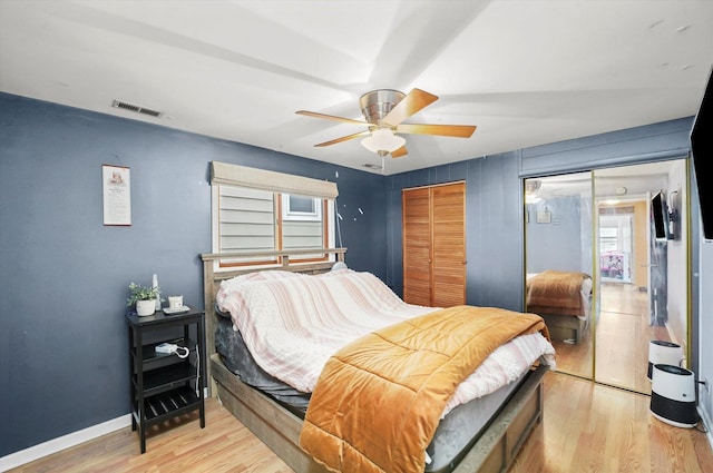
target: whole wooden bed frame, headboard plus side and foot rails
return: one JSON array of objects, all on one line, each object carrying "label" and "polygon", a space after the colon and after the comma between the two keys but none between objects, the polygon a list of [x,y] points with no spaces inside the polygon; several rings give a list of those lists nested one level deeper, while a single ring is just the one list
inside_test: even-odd
[{"label": "whole wooden bed frame, headboard plus side and foot rails", "polygon": [[[270,252],[261,254],[204,254],[204,295],[206,313],[206,346],[208,349],[208,373],[212,380],[208,395],[217,396],[221,403],[237,417],[253,434],[265,443],[296,473],[323,473],[328,470],[316,463],[299,444],[302,420],[287,411],[267,395],[243,383],[225,367],[215,353],[215,296],[221,282],[253,273],[257,269],[236,269],[216,272],[216,262],[234,257],[270,256],[279,257],[282,264],[267,269],[282,269],[297,273],[320,274],[332,268],[334,260],[344,260],[345,248],[331,248],[325,254],[334,255],[329,262],[290,265],[290,257],[314,255],[314,250]],[[548,367],[539,364],[527,375],[520,387],[488,425],[484,434],[468,451],[453,470],[456,473],[506,472],[514,461],[522,442],[533,427],[543,418],[543,377]]]}]

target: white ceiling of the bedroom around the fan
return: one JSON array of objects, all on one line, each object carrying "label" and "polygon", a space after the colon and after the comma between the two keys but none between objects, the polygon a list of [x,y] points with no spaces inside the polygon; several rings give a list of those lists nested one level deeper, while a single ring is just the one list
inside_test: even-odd
[{"label": "white ceiling of the bedroom around the fan", "polygon": [[[0,0],[0,90],[358,169],[381,166],[359,97],[420,88],[387,175],[695,115],[713,61],[702,0]],[[113,108],[114,100],[162,112]]]}]

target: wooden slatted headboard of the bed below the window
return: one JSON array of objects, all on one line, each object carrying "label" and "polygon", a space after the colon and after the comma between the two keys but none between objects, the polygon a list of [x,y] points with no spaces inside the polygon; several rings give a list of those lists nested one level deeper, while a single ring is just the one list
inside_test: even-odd
[{"label": "wooden slatted headboard of the bed below the window", "polygon": [[[221,288],[221,283],[235,276],[261,270],[289,270],[293,273],[320,274],[332,269],[335,262],[344,262],[346,248],[328,248],[328,249],[295,249],[280,252],[240,252],[240,253],[206,253],[201,255],[203,259],[203,300],[205,308],[205,343],[206,343],[206,386],[208,395],[214,396],[214,381],[211,377],[211,357],[215,354],[215,328],[217,324],[217,315],[215,314],[215,296]],[[309,263],[290,263],[290,258],[306,259],[306,256],[315,254],[326,255],[329,260],[311,260]],[[332,257],[332,255],[334,255]],[[215,270],[217,263],[221,260],[245,260],[245,259],[274,259],[281,262],[275,265],[256,266],[237,266],[229,269]]]}]

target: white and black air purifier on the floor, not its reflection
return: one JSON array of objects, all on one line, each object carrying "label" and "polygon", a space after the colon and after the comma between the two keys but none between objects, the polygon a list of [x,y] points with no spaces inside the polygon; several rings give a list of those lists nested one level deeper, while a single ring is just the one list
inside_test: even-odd
[{"label": "white and black air purifier on the floor, not its reflection", "polygon": [[654,365],[649,411],[667,424],[694,427],[699,423],[699,414],[693,372],[674,365]]}]

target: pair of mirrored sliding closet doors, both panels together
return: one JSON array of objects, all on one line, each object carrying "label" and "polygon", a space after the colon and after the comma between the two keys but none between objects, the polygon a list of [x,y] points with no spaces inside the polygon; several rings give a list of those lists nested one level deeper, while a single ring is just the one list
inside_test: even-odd
[{"label": "pair of mirrored sliding closet doors, both panels together", "polygon": [[526,309],[557,371],[648,394],[652,341],[685,358],[686,189],[685,159],[525,180]]}]

